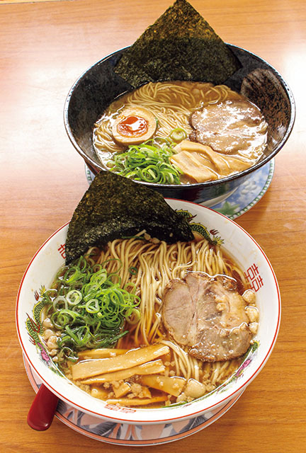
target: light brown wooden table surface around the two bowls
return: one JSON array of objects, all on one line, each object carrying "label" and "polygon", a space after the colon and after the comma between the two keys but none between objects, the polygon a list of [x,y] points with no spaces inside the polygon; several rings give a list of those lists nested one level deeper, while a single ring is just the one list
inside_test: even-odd
[{"label": "light brown wooden table surface around the two bowls", "polygon": [[[40,244],[66,223],[88,183],[64,130],[69,88],[87,67],[132,44],[169,0],[0,1],[1,345],[0,450],[5,453],[144,451],[97,442],[55,418],[26,422],[34,391],[16,335],[16,294]],[[305,452],[306,4],[305,0],[193,0],[215,31],[266,59],[288,82],[295,127],[263,198],[237,218],[278,277],[282,321],[263,371],[215,423],[152,452]],[[146,448],[147,450],[147,448]]]}]

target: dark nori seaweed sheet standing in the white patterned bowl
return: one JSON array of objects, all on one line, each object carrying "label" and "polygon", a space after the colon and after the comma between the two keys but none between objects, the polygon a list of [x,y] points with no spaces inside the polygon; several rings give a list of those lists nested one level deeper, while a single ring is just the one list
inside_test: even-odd
[{"label": "dark nori seaweed sheet standing in the white patterned bowl", "polygon": [[167,243],[191,241],[187,220],[164,197],[145,185],[108,171],[98,173],[86,190],[69,224],[66,263],[89,247],[102,247],[125,236],[147,233]]}]

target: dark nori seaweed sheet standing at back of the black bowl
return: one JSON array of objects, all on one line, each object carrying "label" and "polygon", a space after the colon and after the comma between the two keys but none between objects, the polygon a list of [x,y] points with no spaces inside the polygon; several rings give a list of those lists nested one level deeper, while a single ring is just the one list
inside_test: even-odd
[{"label": "dark nori seaweed sheet standing at back of the black bowl", "polygon": [[176,0],[123,53],[114,71],[133,87],[149,81],[222,84],[241,64],[186,0]]}]

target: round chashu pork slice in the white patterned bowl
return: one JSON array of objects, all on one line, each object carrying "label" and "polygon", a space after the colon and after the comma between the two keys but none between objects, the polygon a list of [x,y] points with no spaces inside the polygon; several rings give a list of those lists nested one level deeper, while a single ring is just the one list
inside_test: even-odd
[{"label": "round chashu pork slice in the white patterned bowl", "polygon": [[246,302],[235,280],[188,273],[171,280],[162,301],[162,319],[177,343],[205,362],[240,357],[251,341]]}]

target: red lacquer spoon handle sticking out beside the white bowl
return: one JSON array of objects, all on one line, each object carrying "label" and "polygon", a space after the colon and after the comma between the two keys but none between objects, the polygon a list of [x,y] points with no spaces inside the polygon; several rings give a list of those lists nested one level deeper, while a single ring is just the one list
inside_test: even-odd
[{"label": "red lacquer spoon handle sticking out beside the white bowl", "polygon": [[57,396],[41,384],[28,412],[28,425],[30,428],[37,431],[47,430],[55,415],[57,402]]}]

